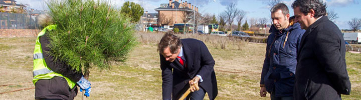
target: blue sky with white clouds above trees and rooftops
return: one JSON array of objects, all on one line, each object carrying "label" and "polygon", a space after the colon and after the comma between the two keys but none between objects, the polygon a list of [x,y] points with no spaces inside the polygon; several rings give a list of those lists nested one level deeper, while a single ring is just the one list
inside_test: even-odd
[{"label": "blue sky with white clouds above trees and rooftops", "polygon": [[[45,1],[47,0],[17,0],[17,3],[29,4],[29,8],[47,9]],[[108,0],[115,4],[118,8],[125,1],[133,1],[143,6],[144,10],[149,13],[156,13],[155,8],[159,7],[161,3],[168,3],[168,0]],[[174,0],[173,0],[174,1]],[[179,0],[180,1],[180,0]],[[186,1],[186,0],[183,0]],[[210,13],[215,14],[223,12],[226,6],[232,2],[237,3],[237,7],[246,11],[246,19],[270,17],[268,0],[188,0],[196,6],[199,6],[199,12],[202,14]],[[291,4],[294,0],[283,0],[289,7],[290,15],[293,14]],[[353,17],[361,18],[361,0],[324,0],[327,4],[327,10],[332,9],[339,16],[336,20],[336,25],[340,29],[349,29],[347,22]]]}]

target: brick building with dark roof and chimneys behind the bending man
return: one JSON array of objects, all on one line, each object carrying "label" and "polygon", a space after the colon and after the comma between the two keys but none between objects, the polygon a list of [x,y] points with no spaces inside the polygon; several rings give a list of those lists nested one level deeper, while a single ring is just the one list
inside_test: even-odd
[{"label": "brick building with dark roof and chimneys behind the bending man", "polygon": [[198,12],[198,7],[192,5],[187,0],[169,0],[168,3],[160,4],[160,7],[155,8],[154,10],[159,14],[159,25],[173,25],[174,23],[188,23],[183,22],[182,20],[184,11],[195,10]]}]

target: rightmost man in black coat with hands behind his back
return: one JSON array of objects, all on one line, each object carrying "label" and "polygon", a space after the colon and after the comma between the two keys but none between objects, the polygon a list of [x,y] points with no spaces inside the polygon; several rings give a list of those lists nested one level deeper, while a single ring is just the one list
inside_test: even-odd
[{"label": "rightmost man in black coat with hands behind his back", "polygon": [[306,30],[297,52],[294,98],[341,99],[351,89],[342,33],[328,19],[322,0],[295,0],[292,7]]}]

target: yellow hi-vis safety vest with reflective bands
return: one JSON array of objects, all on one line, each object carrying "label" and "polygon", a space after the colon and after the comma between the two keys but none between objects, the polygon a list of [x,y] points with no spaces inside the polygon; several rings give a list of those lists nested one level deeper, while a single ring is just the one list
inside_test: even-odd
[{"label": "yellow hi-vis safety vest with reflective bands", "polygon": [[62,74],[52,71],[45,62],[39,37],[44,35],[46,30],[52,30],[52,29],[56,29],[56,25],[49,25],[45,27],[42,31],[39,32],[38,38],[35,42],[35,49],[33,55],[34,57],[33,83],[35,85],[35,83],[40,79],[51,79],[55,76],[60,76],[60,77],[64,77],[67,80],[70,88],[73,88],[76,82],[71,81],[69,78],[63,76]]}]

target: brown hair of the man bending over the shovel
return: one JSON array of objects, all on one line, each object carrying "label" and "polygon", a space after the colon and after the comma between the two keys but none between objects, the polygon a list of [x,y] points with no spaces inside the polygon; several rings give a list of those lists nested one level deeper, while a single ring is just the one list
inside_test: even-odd
[{"label": "brown hair of the man bending over the shovel", "polygon": [[158,43],[158,51],[162,53],[166,47],[170,48],[171,53],[176,53],[180,47],[182,47],[182,42],[178,36],[174,35],[171,32],[167,32],[163,35]]}]

